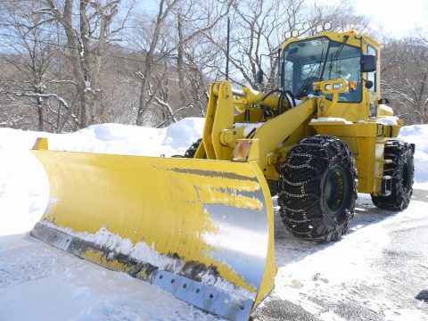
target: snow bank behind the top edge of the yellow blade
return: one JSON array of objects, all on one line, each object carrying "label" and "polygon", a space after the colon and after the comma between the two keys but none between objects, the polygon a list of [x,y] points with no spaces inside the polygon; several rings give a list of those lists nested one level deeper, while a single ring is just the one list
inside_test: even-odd
[{"label": "snow bank behind the top edge of the yellow blade", "polygon": [[70,134],[48,134],[0,128],[0,148],[30,149],[37,137],[47,137],[49,149],[124,155],[171,156],[185,150],[202,136],[204,119],[182,119],[168,128],[132,125],[93,125]]}]

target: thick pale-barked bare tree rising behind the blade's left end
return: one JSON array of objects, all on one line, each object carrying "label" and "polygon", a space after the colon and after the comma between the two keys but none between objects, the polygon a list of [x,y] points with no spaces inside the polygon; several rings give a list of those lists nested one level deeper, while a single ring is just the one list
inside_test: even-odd
[{"label": "thick pale-barked bare tree rising behind the blade's left end", "polygon": [[45,0],[45,4],[38,12],[58,21],[67,39],[65,47],[79,97],[78,126],[85,128],[95,122],[105,45],[123,29],[128,14],[115,21],[120,0],[79,0],[77,5],[73,0],[63,4]]}]

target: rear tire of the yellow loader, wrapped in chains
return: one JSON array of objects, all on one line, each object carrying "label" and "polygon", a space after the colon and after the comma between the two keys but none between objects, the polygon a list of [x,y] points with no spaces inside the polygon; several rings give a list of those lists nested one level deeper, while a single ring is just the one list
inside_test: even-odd
[{"label": "rear tire of the yellow loader, wrapped in chains", "polygon": [[381,196],[372,194],[376,207],[384,210],[404,210],[407,208],[413,193],[415,165],[413,149],[410,144],[398,140],[385,144],[384,159],[391,163],[383,165],[383,176],[391,176],[391,194]]}]

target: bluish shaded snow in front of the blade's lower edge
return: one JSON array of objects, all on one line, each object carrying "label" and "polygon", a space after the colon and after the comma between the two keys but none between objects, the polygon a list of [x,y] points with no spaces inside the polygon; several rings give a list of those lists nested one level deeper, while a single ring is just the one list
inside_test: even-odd
[{"label": "bluish shaded snow in front of the blade's lower edge", "polygon": [[0,320],[214,319],[160,288],[27,234],[2,237],[0,253]]}]

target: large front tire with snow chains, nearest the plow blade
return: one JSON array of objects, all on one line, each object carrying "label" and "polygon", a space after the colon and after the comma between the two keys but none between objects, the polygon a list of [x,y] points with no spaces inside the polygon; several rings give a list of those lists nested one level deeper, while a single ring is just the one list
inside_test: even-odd
[{"label": "large front tire with snow chains, nearest the plow blade", "polygon": [[357,199],[357,170],[347,144],[310,136],[287,154],[278,184],[284,226],[307,241],[337,241],[348,230]]}]

